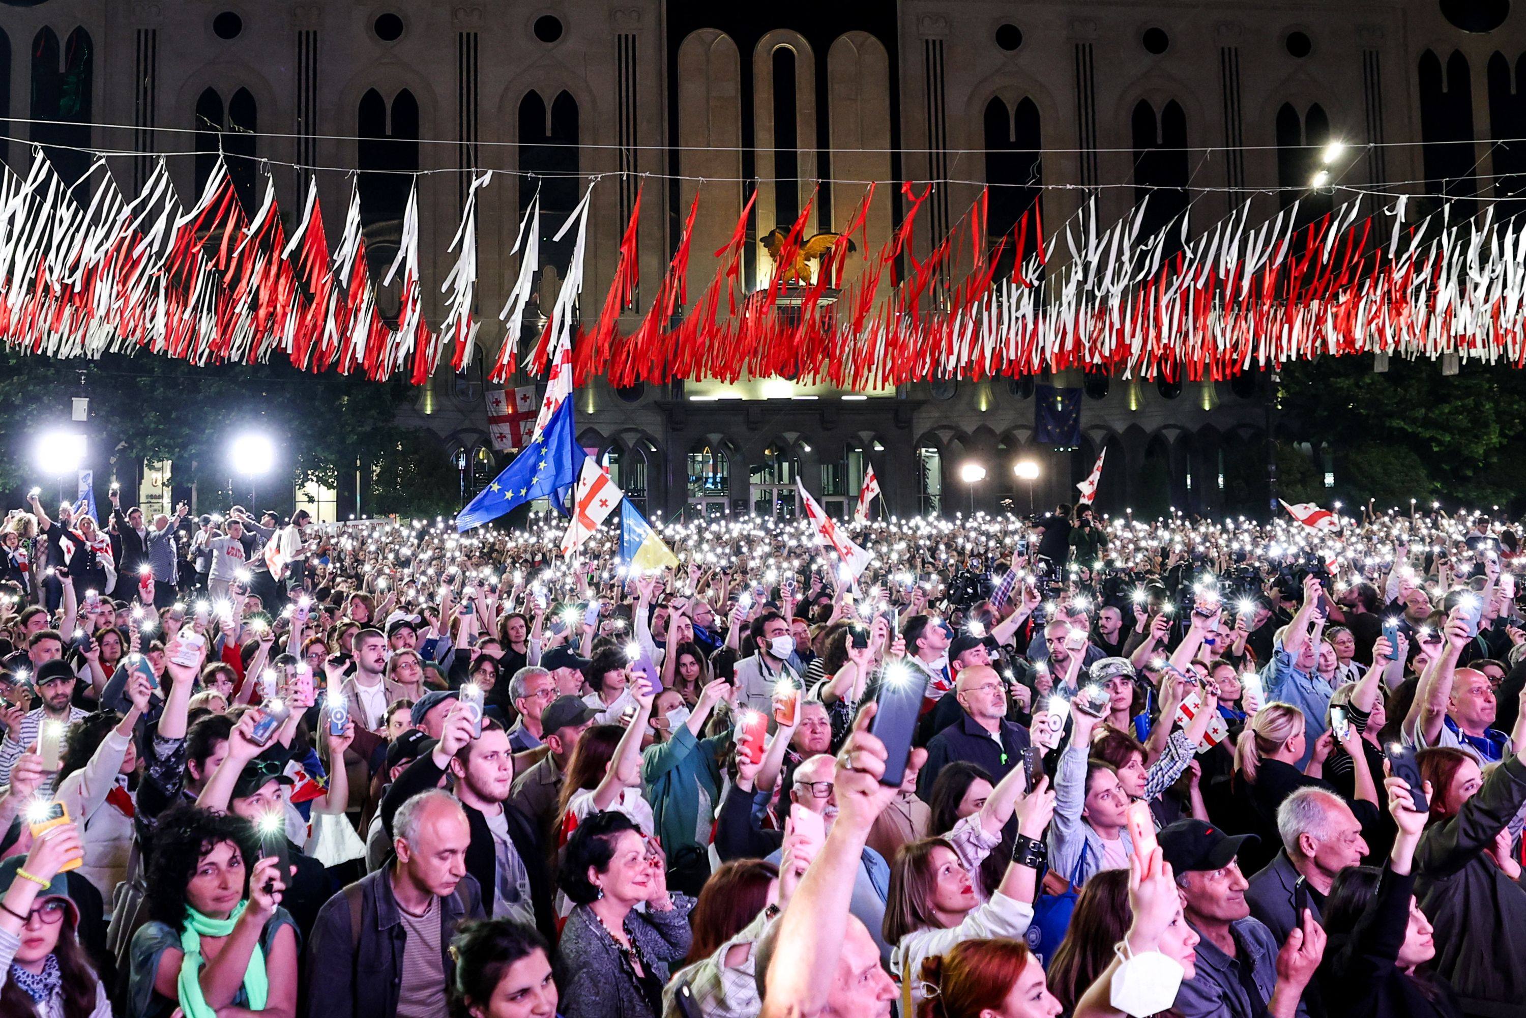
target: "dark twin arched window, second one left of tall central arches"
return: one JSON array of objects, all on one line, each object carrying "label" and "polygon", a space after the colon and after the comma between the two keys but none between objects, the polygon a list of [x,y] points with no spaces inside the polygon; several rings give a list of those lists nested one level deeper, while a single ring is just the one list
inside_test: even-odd
[{"label": "dark twin arched window, second one left of tall central arches", "polygon": [[401,89],[389,104],[371,89],[360,96],[356,121],[360,229],[371,273],[380,276],[403,243],[403,211],[418,172],[418,99]]}]

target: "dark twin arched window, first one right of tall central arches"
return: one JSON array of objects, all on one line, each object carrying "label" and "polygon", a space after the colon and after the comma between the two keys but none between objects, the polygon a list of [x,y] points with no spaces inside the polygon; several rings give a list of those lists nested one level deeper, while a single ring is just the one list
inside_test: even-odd
[{"label": "dark twin arched window, first one right of tall central arches", "polygon": [[[1033,99],[1024,98],[1013,110],[1000,96],[986,104],[986,182],[990,185],[986,243],[995,249],[1006,238],[998,276],[1012,272],[1018,247],[1013,230],[1044,194],[1041,148],[1039,108]],[[1038,218],[1029,215],[1022,256],[1032,258],[1036,250]]]}]

